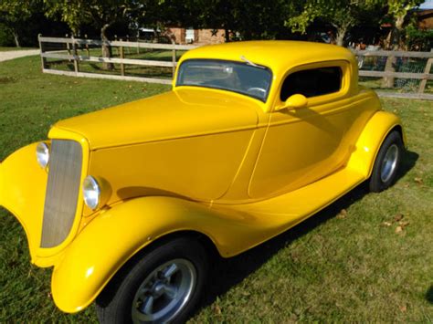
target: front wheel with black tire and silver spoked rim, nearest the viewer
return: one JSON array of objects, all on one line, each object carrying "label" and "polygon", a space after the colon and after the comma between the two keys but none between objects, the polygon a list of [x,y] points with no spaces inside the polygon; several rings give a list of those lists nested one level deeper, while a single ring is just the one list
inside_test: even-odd
[{"label": "front wheel with black tire and silver spoked rim, nearest the viewer", "polygon": [[[172,267],[173,264],[174,268],[177,267],[178,270],[174,270],[176,272],[167,278],[164,275],[169,270],[160,269],[161,267]],[[194,267],[195,271],[191,266]],[[191,277],[195,275],[195,284],[190,284],[187,281],[190,275]],[[110,284],[102,290],[96,300],[96,311],[100,323],[158,323],[167,322],[167,320],[172,323],[183,323],[188,319],[199,301],[204,290],[206,277],[206,251],[194,238],[177,237],[161,245],[154,246],[135,256],[132,262],[123,267],[119,274],[111,279]],[[183,282],[186,282],[186,284],[182,286],[181,283]],[[158,288],[158,285],[160,287],[161,285],[168,287],[179,285],[179,287],[175,290],[176,293],[169,296],[166,294],[165,289]],[[146,293],[139,293],[139,288],[141,291],[145,290]],[[184,290],[190,291],[187,294],[185,293],[185,296],[188,296],[185,297],[186,301],[181,298],[184,301],[180,301],[179,305],[175,304],[175,298],[171,298],[178,295],[183,296],[179,292]],[[161,295],[157,296],[159,294]],[[151,306],[149,313],[143,311],[149,297],[138,297],[142,295],[152,296],[153,306]],[[173,311],[168,311],[173,303],[178,306],[175,306]],[[164,306],[165,304],[167,305]],[[138,308],[142,309],[139,310]],[[164,313],[165,310],[168,312],[167,315],[158,318],[157,314]],[[152,320],[147,320],[153,316],[149,315],[151,313],[156,315]],[[143,320],[144,318],[146,320]]]}]

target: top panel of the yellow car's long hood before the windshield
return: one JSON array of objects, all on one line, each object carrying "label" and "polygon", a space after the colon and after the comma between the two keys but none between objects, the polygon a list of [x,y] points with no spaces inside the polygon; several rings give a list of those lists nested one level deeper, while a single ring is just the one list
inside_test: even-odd
[{"label": "top panel of the yellow car's long hood before the windshield", "polygon": [[257,126],[259,101],[211,89],[176,89],[58,121],[84,136],[90,149],[164,141]]}]

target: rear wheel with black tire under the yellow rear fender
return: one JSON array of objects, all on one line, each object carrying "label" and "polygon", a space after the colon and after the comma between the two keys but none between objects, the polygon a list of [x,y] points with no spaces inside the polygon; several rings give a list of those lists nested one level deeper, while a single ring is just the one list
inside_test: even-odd
[{"label": "rear wheel with black tire under the yellow rear fender", "polygon": [[369,180],[371,192],[380,193],[396,182],[403,152],[403,140],[400,133],[391,131],[375,158],[375,166]]}]

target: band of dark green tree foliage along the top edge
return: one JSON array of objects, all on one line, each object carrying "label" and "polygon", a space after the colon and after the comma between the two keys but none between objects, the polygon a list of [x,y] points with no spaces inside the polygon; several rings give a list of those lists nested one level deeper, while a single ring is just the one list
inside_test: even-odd
[{"label": "band of dark green tree foliage along the top edge", "polygon": [[[391,25],[386,47],[401,46],[410,10],[423,0],[0,0],[0,26],[19,44],[27,19],[44,15],[66,23],[72,34],[98,31],[102,40],[119,26],[133,33],[140,26],[224,29],[227,40],[301,37],[312,26],[335,30],[335,40],[359,26]],[[35,14],[37,12],[37,14]],[[407,25],[407,24],[406,24]],[[406,26],[405,25],[405,26]],[[412,33],[412,35],[415,35]],[[412,37],[414,38],[414,37]],[[109,48],[103,55],[110,56]]]}]

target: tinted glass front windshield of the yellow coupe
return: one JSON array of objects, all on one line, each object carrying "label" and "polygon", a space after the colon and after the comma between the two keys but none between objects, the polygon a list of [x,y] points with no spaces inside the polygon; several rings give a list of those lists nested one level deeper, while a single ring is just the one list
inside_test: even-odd
[{"label": "tinted glass front windshield of the yellow coupe", "polygon": [[179,68],[176,86],[195,86],[268,99],[272,73],[269,68],[213,59],[188,59]]}]

